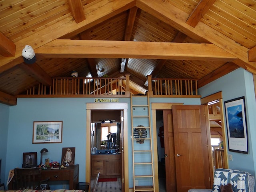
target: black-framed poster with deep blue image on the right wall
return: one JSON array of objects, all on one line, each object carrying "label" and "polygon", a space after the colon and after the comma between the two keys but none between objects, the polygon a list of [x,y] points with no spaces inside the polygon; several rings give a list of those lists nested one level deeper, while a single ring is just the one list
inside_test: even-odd
[{"label": "black-framed poster with deep blue image on the right wall", "polygon": [[248,154],[244,97],[225,101],[228,150]]}]

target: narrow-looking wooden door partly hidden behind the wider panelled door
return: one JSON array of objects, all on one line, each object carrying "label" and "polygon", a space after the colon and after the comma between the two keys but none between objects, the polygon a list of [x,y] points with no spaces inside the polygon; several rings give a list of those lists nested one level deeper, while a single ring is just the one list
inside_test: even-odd
[{"label": "narrow-looking wooden door partly hidden behind the wider panelled door", "polygon": [[172,110],[163,111],[166,191],[176,192],[176,170]]}]

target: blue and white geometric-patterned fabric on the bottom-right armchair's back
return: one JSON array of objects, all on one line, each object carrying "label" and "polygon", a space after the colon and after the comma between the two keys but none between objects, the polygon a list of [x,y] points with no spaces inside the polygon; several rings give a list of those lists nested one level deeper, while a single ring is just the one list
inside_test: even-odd
[{"label": "blue and white geometric-patterned fabric on the bottom-right armchair's back", "polygon": [[220,186],[232,184],[234,192],[249,192],[248,177],[250,173],[232,169],[216,169],[212,192],[220,192]]}]

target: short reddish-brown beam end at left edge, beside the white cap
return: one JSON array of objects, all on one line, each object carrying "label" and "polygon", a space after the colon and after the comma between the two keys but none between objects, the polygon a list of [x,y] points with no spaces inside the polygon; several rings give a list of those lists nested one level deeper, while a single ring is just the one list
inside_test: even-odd
[{"label": "short reddish-brown beam end at left edge, beside the white cap", "polygon": [[10,39],[0,33],[0,54],[3,56],[15,56],[16,45]]}]

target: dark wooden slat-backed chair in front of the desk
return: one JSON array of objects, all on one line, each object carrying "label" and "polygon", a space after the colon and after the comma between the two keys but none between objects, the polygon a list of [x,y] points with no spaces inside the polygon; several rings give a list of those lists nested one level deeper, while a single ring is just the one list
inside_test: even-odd
[{"label": "dark wooden slat-backed chair in front of the desk", "polygon": [[23,189],[46,189],[49,186],[50,178],[40,180],[41,168],[16,168],[14,169],[14,190]]}]

